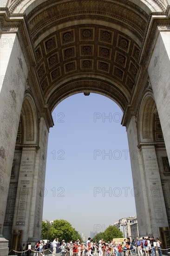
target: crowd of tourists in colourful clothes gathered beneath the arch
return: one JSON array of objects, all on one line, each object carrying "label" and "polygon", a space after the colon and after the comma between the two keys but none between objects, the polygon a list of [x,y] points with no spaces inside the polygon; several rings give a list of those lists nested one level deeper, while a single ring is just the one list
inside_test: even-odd
[{"label": "crowd of tourists in colourful clothes gathered beneath the arch", "polygon": [[56,256],[57,249],[61,249],[62,256],[157,256],[156,247],[159,256],[162,256],[161,242],[154,237],[143,237],[142,240],[137,237],[132,241],[127,237],[122,243],[114,242],[114,239],[109,242],[103,239],[96,242],[89,237],[86,243],[81,243],[79,239],[69,243],[62,240],[61,245],[59,239],[55,238],[52,242],[52,256]]}]

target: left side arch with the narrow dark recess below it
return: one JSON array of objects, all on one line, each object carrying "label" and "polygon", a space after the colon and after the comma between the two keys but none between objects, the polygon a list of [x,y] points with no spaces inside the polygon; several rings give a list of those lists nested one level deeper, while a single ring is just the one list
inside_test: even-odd
[{"label": "left side arch with the narrow dark recess below it", "polygon": [[8,190],[6,217],[3,227],[3,233],[9,239],[9,245],[13,245],[13,218],[15,215],[15,205],[17,204],[17,188],[20,186],[20,169],[22,168],[22,161],[26,160],[26,157],[30,157],[31,154],[23,155],[23,148],[36,146],[38,138],[38,125],[37,125],[37,113],[34,104],[33,97],[29,94],[25,94],[25,98],[22,104],[20,121],[18,126],[18,133],[16,136],[16,144],[13,153],[13,164],[10,176],[10,189]]}]

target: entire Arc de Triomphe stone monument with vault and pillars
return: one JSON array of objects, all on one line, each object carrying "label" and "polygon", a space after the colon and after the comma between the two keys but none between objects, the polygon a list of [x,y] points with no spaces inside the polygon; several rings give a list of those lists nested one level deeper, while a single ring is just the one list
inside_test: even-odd
[{"label": "entire Arc de Triomphe stone monument with vault and pillars", "polygon": [[1,0],[1,256],[40,237],[52,110],[82,92],[123,110],[139,235],[166,241],[170,0]]}]

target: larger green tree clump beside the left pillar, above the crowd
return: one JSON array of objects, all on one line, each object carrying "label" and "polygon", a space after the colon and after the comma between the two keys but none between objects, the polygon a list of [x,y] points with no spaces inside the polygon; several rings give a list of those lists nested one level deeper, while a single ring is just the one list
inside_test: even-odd
[{"label": "larger green tree clump beside the left pillar, above the crowd", "polygon": [[[42,222],[42,239],[49,239],[53,241],[54,238],[59,238],[61,242],[63,239],[65,242],[70,242],[70,240],[77,241],[81,240],[81,236],[78,234],[72,225],[65,220],[55,220],[50,227],[47,225],[48,223]],[[47,238],[48,237],[48,238]]]}]

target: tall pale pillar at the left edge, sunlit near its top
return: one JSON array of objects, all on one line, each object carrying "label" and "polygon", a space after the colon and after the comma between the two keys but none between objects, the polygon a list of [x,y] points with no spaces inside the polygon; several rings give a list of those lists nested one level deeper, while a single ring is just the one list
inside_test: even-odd
[{"label": "tall pale pillar at the left edge, sunlit near its top", "polygon": [[[28,68],[17,34],[0,37],[0,256],[8,254],[2,237],[7,195],[13,164]],[[13,153],[12,153],[13,154]],[[3,244],[1,244],[3,241]]]}]

